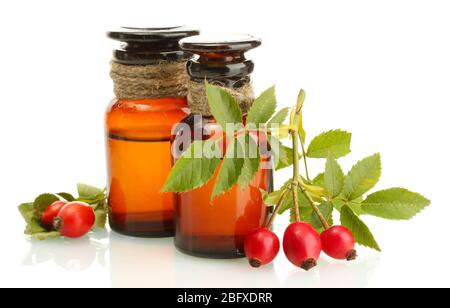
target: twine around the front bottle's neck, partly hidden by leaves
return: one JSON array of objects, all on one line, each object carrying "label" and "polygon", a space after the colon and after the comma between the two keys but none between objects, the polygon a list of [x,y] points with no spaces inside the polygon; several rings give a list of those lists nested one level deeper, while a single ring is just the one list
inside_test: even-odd
[{"label": "twine around the front bottle's neck, partly hidden by leaves", "polygon": [[[255,98],[253,86],[250,82],[245,83],[239,88],[228,88],[220,82],[211,82],[211,84],[222,87],[232,96],[234,96],[244,114],[246,114],[250,110],[250,107],[252,106]],[[202,115],[204,117],[212,116],[209,109],[208,98],[206,96],[205,83],[190,80],[188,82],[187,98],[189,108],[191,109],[191,112],[193,114]]]}]

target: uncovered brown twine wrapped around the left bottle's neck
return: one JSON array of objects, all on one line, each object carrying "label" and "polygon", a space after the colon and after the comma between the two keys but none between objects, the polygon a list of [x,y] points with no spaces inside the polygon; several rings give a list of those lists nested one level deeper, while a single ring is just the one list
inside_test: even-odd
[{"label": "uncovered brown twine wrapped around the left bottle's neck", "polygon": [[161,61],[154,65],[111,62],[110,75],[117,98],[141,100],[187,96],[186,61]]}]

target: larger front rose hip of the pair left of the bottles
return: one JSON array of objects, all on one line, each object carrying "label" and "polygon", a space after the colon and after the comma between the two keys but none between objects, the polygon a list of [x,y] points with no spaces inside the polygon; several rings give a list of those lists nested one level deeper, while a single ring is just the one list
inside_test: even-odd
[{"label": "larger front rose hip of the pair left of the bottles", "polygon": [[70,202],[61,209],[53,226],[62,236],[78,238],[87,234],[94,223],[95,213],[89,204]]}]

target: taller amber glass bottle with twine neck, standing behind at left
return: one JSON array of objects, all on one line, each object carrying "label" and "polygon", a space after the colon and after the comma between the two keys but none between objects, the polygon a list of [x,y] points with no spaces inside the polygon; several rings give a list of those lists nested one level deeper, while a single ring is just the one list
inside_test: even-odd
[{"label": "taller amber glass bottle with twine neck, standing behind at left", "polygon": [[114,51],[116,99],[106,114],[110,226],[139,237],[174,233],[173,195],[160,192],[171,169],[173,126],[187,114],[185,27],[121,28]]}]

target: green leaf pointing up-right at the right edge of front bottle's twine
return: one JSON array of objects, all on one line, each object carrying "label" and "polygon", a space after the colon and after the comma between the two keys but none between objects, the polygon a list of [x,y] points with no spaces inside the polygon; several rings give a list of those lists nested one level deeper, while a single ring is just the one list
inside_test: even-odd
[{"label": "green leaf pointing up-right at the right edge of front bottle's twine", "polygon": [[254,102],[247,116],[247,123],[266,124],[277,109],[275,86],[264,91]]}]

